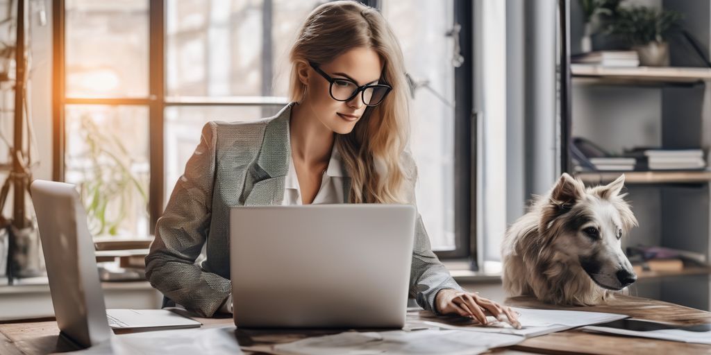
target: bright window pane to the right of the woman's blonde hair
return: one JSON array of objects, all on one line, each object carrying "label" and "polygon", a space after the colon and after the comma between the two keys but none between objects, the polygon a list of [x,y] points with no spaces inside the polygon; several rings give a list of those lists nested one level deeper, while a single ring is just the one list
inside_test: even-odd
[{"label": "bright window pane to the right of the woman's blonde hair", "polygon": [[[434,250],[454,239],[454,23],[452,1],[383,1],[412,87],[410,146],[419,168],[417,202]],[[427,168],[424,168],[427,167]]]}]

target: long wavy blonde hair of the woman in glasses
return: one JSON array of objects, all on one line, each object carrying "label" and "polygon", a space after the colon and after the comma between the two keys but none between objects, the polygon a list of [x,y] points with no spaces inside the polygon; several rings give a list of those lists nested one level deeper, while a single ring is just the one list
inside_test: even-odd
[{"label": "long wavy blonde hair of the woman in glasses", "polygon": [[323,4],[304,21],[289,53],[289,99],[301,102],[306,85],[299,62],[331,62],[353,48],[370,48],[385,63],[381,82],[392,91],[377,107],[368,107],[353,131],[336,135],[336,148],[351,176],[352,203],[404,203],[405,172],[400,157],[410,138],[407,80],[402,50],[385,18],[355,1]]}]

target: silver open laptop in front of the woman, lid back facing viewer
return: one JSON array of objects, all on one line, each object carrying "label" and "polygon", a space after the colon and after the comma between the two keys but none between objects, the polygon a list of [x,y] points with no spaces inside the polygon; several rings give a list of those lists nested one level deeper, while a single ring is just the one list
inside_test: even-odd
[{"label": "silver open laptop in front of the woman, lid back facing viewer", "polygon": [[230,276],[240,328],[402,328],[415,207],[232,207]]}]

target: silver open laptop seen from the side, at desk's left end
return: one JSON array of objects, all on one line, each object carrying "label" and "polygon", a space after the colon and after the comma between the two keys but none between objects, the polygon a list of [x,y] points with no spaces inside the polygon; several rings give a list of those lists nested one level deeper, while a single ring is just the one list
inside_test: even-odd
[{"label": "silver open laptop seen from the side, at desk's left end", "polygon": [[114,329],[178,329],[201,323],[169,310],[107,310],[86,212],[74,185],[34,180],[30,186],[61,333],[80,346]]}]

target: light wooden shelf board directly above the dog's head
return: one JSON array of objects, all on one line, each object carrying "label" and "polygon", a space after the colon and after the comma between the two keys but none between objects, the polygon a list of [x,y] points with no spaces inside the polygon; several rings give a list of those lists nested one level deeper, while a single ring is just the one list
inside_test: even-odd
[{"label": "light wooden shelf board directly above the dog's head", "polygon": [[711,182],[711,171],[585,171],[575,175],[587,184],[604,184],[625,175],[626,184],[698,184]]}]

